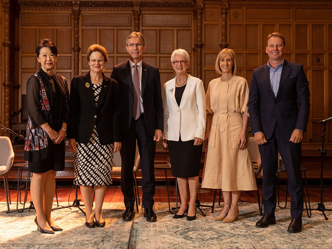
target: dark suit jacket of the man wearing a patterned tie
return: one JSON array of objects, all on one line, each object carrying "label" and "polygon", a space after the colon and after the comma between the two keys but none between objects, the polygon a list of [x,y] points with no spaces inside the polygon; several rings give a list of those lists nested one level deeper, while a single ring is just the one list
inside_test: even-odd
[{"label": "dark suit jacket of the man wearing a patterned tie", "polygon": [[[163,102],[159,69],[147,63],[142,63],[142,98],[144,119],[147,132],[154,135],[156,129],[163,130]],[[111,78],[118,81],[120,92],[122,133],[127,133],[132,118],[133,88],[129,61],[113,67]]]}]

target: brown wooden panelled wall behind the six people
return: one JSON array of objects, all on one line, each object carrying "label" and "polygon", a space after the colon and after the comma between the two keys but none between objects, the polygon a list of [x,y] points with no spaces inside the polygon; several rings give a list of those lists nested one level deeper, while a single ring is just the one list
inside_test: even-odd
[{"label": "brown wooden panelled wall behind the six people", "polygon": [[[8,1],[8,0],[5,0]],[[12,3],[12,8],[15,4]],[[56,71],[70,79],[88,71],[85,52],[89,45],[106,47],[114,65],[128,59],[125,39],[140,31],[146,39],[144,61],[160,69],[161,84],[174,77],[170,55],[176,48],[191,56],[190,73],[203,79],[205,87],[218,75],[214,70],[221,48],[234,49],[239,75],[250,83],[252,70],[265,64],[266,36],[274,31],[286,37],[286,59],[302,63],[310,82],[311,112],[303,149],[318,155],[322,126],[317,121],[332,116],[332,4],[331,1],[18,1],[12,12],[14,34],[11,61],[10,109],[21,106],[26,82],[38,70],[35,47],[41,38],[51,38],[58,47]],[[0,5],[1,6],[1,5]],[[1,13],[4,10],[1,9]],[[0,15],[0,28],[6,29]],[[4,32],[0,32],[4,41]],[[3,49],[0,77],[4,82]],[[6,105],[5,87],[1,105]],[[329,101],[330,100],[330,101]],[[0,122],[4,124],[4,108]],[[332,149],[332,124],[328,125],[328,149]]]}]

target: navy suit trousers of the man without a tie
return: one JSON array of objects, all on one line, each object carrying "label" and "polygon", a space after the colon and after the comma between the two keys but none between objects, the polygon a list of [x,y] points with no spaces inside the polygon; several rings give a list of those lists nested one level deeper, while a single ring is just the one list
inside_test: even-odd
[{"label": "navy suit trousers of the man without a tie", "polygon": [[303,186],[301,173],[301,143],[293,143],[281,137],[277,125],[267,143],[259,145],[263,165],[263,205],[265,214],[274,214],[277,197],[278,148],[285,165],[290,193],[290,214],[292,218],[302,217]]}]

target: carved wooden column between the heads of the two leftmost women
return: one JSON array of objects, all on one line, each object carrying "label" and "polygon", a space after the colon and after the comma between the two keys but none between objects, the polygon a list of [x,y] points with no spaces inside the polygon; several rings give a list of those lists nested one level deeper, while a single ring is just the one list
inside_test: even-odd
[{"label": "carved wooden column between the heads of the two leftmost women", "polygon": [[79,75],[79,52],[81,50],[79,44],[79,19],[80,19],[80,9],[78,2],[74,2],[73,7],[73,19],[74,19],[74,75]]}]

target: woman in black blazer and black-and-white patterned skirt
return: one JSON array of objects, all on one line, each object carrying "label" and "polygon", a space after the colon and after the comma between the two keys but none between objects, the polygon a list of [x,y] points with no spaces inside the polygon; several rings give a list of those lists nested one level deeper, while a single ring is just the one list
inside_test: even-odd
[{"label": "woman in black blazer and black-and-white patterned skirt", "polygon": [[[67,138],[74,151],[74,184],[80,185],[86,208],[85,225],[104,227],[101,210],[112,184],[113,153],[121,148],[118,83],[103,74],[107,51],[93,44],[86,53],[90,71],[74,76],[70,87]],[[92,186],[96,191],[92,213]]]}]

